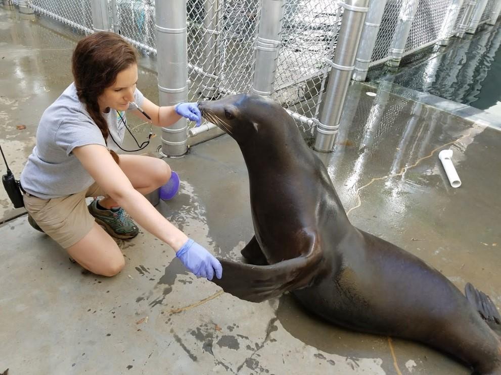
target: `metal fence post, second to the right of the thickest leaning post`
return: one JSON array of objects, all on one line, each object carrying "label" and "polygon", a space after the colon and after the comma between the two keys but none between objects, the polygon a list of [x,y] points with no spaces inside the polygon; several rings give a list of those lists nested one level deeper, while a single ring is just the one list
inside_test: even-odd
[{"label": "metal fence post, second to the right of the thickest leaning post", "polygon": [[407,43],[409,32],[411,32],[414,17],[418,11],[418,5],[419,0],[406,0],[400,9],[398,24],[395,28],[395,33],[393,34],[393,40],[391,42],[391,60],[387,63],[389,66],[398,67],[400,65],[405,44]]}]

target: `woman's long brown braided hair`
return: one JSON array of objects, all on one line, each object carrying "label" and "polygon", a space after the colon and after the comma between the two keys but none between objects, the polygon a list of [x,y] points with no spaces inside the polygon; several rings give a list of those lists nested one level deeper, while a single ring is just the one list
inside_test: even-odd
[{"label": "woman's long brown braided hair", "polygon": [[[137,64],[135,49],[112,32],[91,34],[81,39],[73,51],[71,71],[78,99],[85,104],[105,142],[110,132],[99,109],[98,97],[113,85],[118,73],[132,64]],[[112,150],[110,153],[118,164],[118,155]]]}]

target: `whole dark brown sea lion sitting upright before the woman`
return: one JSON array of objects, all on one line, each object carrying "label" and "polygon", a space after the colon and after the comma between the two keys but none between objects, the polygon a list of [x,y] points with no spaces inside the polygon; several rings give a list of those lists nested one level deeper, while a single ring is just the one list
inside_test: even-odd
[{"label": "whole dark brown sea lion sitting upright before the woman", "polygon": [[329,322],[415,340],[476,373],[501,375],[501,317],[488,296],[350,224],[324,164],[276,102],[238,94],[199,103],[240,146],[255,236],[249,264],[219,259],[213,282],[260,302],[285,291]]}]

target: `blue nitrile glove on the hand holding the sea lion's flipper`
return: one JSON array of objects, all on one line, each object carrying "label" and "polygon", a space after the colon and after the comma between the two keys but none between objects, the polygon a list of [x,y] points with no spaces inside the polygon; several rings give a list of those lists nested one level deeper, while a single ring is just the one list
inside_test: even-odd
[{"label": "blue nitrile glove on the hand holding the sea lion's flipper", "polygon": [[202,276],[209,280],[214,277],[214,271],[218,279],[222,276],[222,266],[210,252],[193,241],[191,238],[176,252],[185,267],[195,276]]}]

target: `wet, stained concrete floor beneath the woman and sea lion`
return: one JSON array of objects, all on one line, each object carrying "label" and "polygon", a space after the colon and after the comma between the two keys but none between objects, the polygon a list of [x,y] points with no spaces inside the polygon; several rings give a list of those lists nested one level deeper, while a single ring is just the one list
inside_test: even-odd
[{"label": "wet, stained concrete floor beneath the woman and sea lion", "polygon": [[[0,29],[0,141],[19,176],[41,113],[71,82],[81,36],[6,6]],[[144,60],[138,87],[157,102]],[[460,289],[473,283],[499,307],[500,140],[485,122],[388,86],[353,84],[335,152],[320,156],[354,225],[419,256]],[[149,151],[158,144],[156,137]],[[439,164],[444,148],[454,152],[459,189]],[[157,208],[213,253],[239,259],[253,229],[237,144],[224,135],[166,162],[181,189]],[[326,324],[290,295],[256,304],[221,293],[148,233],[119,242],[126,265],[118,276],[82,272],[0,194],[0,373],[470,373],[420,344]]]}]

